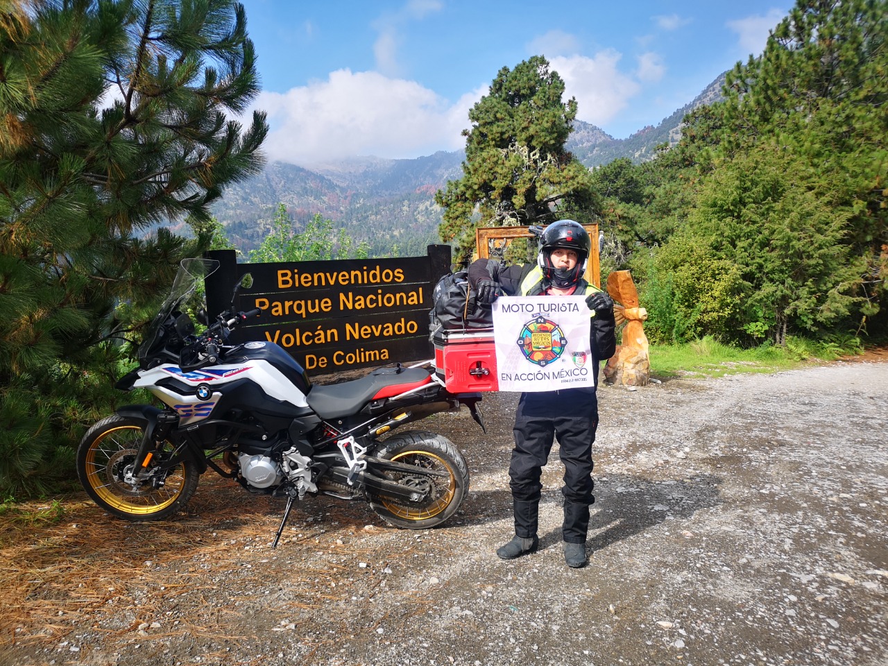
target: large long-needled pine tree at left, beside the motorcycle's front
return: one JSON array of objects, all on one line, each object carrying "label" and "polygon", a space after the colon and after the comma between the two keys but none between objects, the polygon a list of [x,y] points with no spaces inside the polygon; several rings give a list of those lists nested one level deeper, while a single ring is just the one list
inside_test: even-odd
[{"label": "large long-needled pine tree at left, beside the motorcycle's front", "polygon": [[109,380],[107,341],[209,242],[164,225],[209,221],[261,167],[264,115],[226,117],[257,92],[229,0],[31,0],[0,17],[0,488],[59,472],[54,447],[88,411],[75,389]]}]

